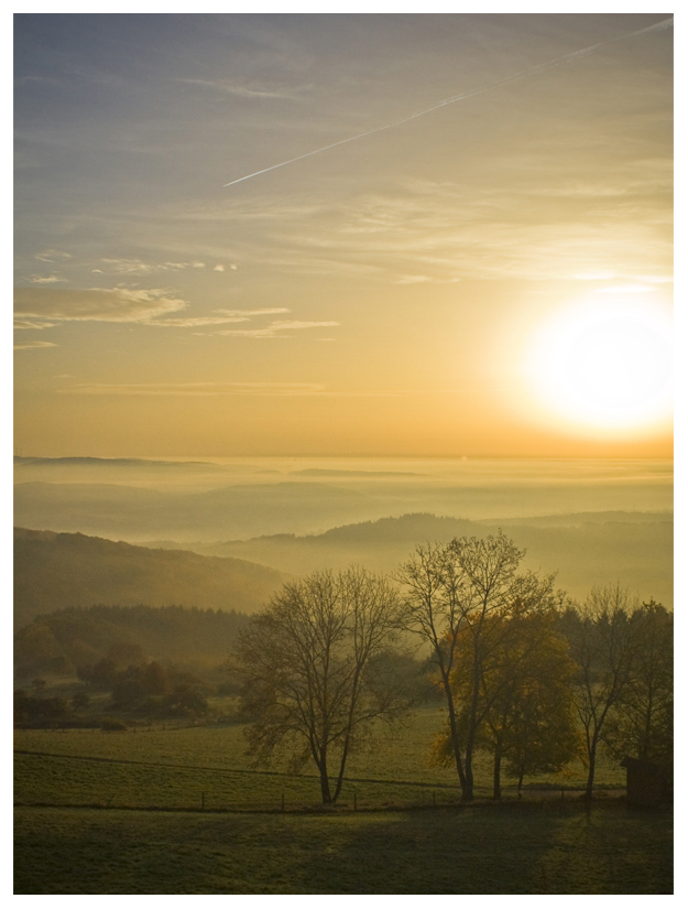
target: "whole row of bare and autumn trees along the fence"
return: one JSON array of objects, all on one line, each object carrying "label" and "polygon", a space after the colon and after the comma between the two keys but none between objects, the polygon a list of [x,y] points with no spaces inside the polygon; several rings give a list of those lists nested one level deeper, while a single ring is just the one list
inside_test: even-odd
[{"label": "whole row of bare and autumn trees along the fence", "polygon": [[323,802],[340,794],[349,756],[412,705],[403,660],[411,636],[432,665],[446,724],[432,749],[474,796],[478,750],[518,779],[588,768],[601,747],[670,766],[673,615],[618,584],[581,606],[555,576],[521,571],[501,531],[426,544],[386,578],[352,566],[285,584],[240,634],[228,670],[242,680],[256,764],[315,765]]}]

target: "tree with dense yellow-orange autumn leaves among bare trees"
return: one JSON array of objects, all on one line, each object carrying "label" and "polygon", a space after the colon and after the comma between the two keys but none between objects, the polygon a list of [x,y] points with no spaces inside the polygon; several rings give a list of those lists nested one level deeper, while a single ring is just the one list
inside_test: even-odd
[{"label": "tree with dense yellow-orange autumn leaves among bare trees", "polygon": [[[466,628],[452,672],[459,733],[476,724],[476,745],[493,757],[493,797],[502,794],[503,762],[518,778],[560,770],[575,756],[570,681],[575,664],[556,630],[557,613],[521,598],[485,618],[480,640]],[[476,647],[482,651],[473,690]],[[477,704],[476,713],[472,713]],[[439,760],[450,753],[448,736],[435,744]]]}]

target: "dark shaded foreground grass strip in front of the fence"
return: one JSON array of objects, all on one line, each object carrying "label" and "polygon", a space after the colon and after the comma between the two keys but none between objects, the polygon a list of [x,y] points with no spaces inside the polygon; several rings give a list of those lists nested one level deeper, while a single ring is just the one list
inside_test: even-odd
[{"label": "dark shaded foreground grass strip in front of the fence", "polygon": [[613,800],[321,815],[17,810],[15,894],[670,894],[671,818]]}]

